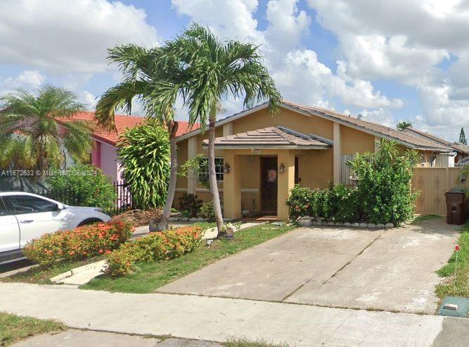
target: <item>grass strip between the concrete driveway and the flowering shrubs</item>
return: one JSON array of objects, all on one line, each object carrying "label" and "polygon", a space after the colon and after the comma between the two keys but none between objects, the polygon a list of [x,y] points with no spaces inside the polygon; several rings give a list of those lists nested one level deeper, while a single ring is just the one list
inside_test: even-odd
[{"label": "grass strip between the concrete driveway and the flowering shrubs", "polygon": [[257,225],[235,232],[231,241],[219,239],[214,241],[210,248],[203,241],[192,252],[182,255],[180,258],[139,263],[141,268],[139,272],[117,278],[101,275],[91,279],[89,283],[80,286],[80,288],[124,293],[152,293],[160,286],[195,272],[218,259],[262,244],[262,242],[285,234],[294,228],[293,225]]}]

